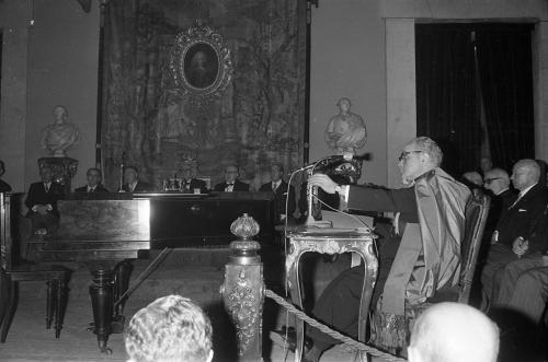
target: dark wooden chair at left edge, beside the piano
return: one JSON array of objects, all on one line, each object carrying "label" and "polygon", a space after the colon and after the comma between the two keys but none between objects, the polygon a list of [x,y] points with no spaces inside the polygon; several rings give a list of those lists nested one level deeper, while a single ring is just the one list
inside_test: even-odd
[{"label": "dark wooden chair at left edge, beside the piano", "polygon": [[0,342],[4,342],[15,314],[19,282],[45,281],[47,284],[46,328],[55,320],[55,337],[59,338],[68,296],[71,271],[60,266],[18,264],[13,235],[15,230],[16,195],[0,192]]}]

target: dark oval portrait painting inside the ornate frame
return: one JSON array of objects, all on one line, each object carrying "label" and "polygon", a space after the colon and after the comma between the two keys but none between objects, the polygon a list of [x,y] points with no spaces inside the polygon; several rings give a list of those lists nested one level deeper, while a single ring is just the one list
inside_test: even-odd
[{"label": "dark oval portrait painting inside the ornate frame", "polygon": [[219,73],[219,58],[215,48],[207,43],[195,43],[184,55],[184,78],[197,89],[215,84]]}]

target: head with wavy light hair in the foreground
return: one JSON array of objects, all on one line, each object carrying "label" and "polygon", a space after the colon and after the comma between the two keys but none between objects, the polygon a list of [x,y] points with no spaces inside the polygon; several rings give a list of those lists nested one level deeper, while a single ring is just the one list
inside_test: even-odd
[{"label": "head with wavy light hair in the foreground", "polygon": [[128,362],[209,362],[212,334],[209,318],[189,299],[159,297],[129,320]]}]

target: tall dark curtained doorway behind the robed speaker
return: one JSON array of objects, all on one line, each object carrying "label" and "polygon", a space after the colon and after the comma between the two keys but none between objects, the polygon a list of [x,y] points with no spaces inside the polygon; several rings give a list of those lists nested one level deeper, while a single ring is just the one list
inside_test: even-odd
[{"label": "tall dark curtained doorway behind the robed speaker", "polygon": [[454,176],[534,159],[532,24],[418,24],[416,133]]}]

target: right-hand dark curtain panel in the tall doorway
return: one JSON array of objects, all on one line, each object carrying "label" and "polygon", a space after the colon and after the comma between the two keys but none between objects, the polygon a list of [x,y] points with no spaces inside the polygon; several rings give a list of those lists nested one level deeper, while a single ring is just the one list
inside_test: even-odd
[{"label": "right-hand dark curtain panel in the tall doorway", "polygon": [[477,32],[478,66],[492,161],[512,170],[535,157],[532,25],[501,24]]}]

